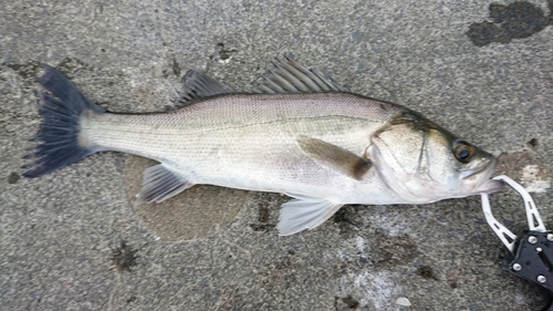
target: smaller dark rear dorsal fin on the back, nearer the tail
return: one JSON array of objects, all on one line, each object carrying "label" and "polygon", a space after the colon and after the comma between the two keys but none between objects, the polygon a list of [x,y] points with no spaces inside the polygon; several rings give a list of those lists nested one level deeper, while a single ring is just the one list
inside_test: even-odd
[{"label": "smaller dark rear dorsal fin on the back, nearer the tail", "polygon": [[182,76],[180,90],[178,91],[180,95],[178,102],[186,104],[200,97],[231,92],[232,90],[211,76],[199,71],[189,70],[185,76]]}]

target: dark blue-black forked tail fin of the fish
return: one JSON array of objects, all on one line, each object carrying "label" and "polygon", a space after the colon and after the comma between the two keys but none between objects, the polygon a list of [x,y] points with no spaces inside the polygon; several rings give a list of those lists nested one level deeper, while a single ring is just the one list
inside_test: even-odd
[{"label": "dark blue-black forked tail fin of the fish", "polygon": [[23,174],[28,178],[51,173],[97,152],[79,145],[79,117],[88,110],[104,112],[51,66],[44,65],[44,74],[36,82],[58,99],[35,92],[42,123],[39,133],[31,139],[38,144],[23,157],[30,159],[30,163],[23,166],[30,168]]}]

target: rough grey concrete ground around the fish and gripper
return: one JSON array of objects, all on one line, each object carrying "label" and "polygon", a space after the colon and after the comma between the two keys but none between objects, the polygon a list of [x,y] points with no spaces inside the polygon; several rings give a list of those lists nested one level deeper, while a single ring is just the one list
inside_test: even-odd
[{"label": "rough grey concrete ground around the fish and gripper", "polygon": [[[3,1],[1,309],[539,310],[540,288],[500,269],[478,197],[346,206],[279,237],[273,194],[204,187],[134,209],[146,164],[124,154],[20,176],[41,62],[109,111],[153,112],[188,69],[248,90],[285,52],[503,154],[553,228],[553,3],[492,2]],[[513,191],[492,207],[526,226]]]}]

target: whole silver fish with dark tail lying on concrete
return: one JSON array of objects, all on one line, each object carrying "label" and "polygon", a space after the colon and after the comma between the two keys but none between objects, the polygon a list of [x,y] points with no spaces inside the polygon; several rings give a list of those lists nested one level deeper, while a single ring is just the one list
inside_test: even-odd
[{"label": "whole silver fish with dark tail lying on concrete", "polygon": [[342,206],[428,204],[498,191],[497,158],[401,105],[347,92],[291,58],[253,92],[190,70],[181,107],[109,113],[43,65],[41,124],[24,156],[35,178],[98,152],[157,160],[135,206],[207,184],[284,194],[279,235],[313,229]]}]

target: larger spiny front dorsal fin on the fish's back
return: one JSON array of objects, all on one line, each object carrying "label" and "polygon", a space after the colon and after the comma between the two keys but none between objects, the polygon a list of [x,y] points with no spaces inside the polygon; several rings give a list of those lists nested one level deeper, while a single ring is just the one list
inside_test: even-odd
[{"label": "larger spiny front dorsal fin on the fish's back", "polygon": [[289,56],[275,58],[274,69],[257,87],[259,93],[316,93],[345,91],[332,79],[324,77],[313,69],[305,69]]}]

